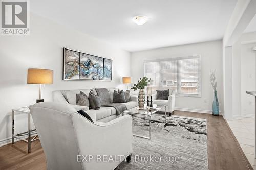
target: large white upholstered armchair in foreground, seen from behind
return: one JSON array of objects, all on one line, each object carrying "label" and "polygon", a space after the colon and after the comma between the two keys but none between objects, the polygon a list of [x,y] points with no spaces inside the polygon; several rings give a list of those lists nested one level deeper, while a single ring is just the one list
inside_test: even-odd
[{"label": "large white upholstered armchair in foreground, seen from behind", "polygon": [[[42,102],[29,108],[48,170],[115,169],[125,158],[130,161],[133,149],[130,115],[108,123],[92,123],[63,103]],[[90,161],[89,155],[92,156]],[[117,156],[120,160],[104,162],[104,155],[107,158]],[[82,156],[87,156],[87,161],[82,161]]]}]

